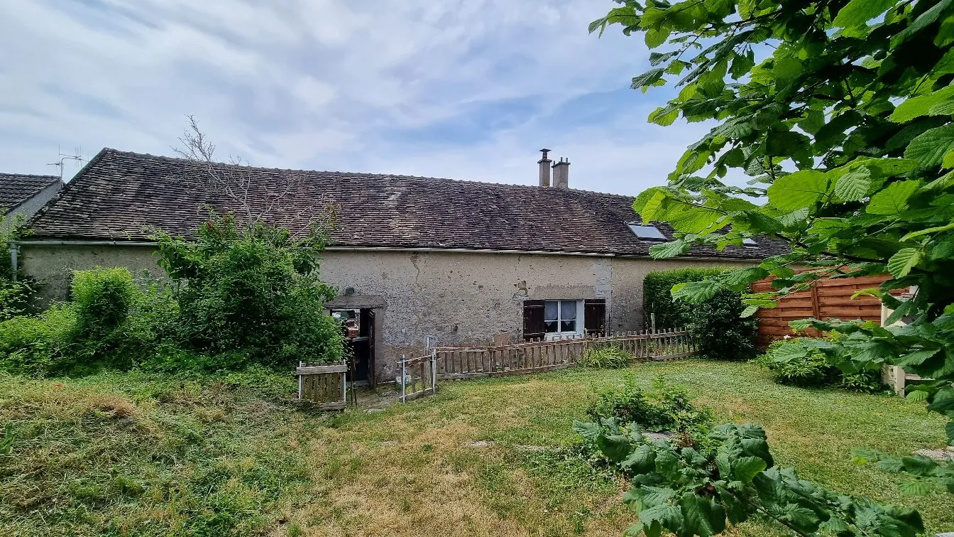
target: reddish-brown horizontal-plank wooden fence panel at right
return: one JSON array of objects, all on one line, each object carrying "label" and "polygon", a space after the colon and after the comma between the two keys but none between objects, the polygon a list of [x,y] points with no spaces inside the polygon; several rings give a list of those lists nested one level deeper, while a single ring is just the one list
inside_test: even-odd
[{"label": "reddish-brown horizontal-plank wooden fence panel at right", "polygon": [[[881,322],[881,300],[874,296],[859,296],[852,299],[856,291],[877,288],[890,276],[859,276],[857,278],[838,278],[819,280],[812,285],[811,290],[790,294],[778,301],[776,308],[762,308],[757,311],[758,318],[758,346],[767,347],[769,343],[792,335],[788,323],[798,319],[815,317],[816,319],[840,319],[849,321],[862,319],[865,321]],[[752,284],[753,292],[771,291],[771,281],[766,278]],[[800,335],[820,335],[814,329],[806,330]]]}]

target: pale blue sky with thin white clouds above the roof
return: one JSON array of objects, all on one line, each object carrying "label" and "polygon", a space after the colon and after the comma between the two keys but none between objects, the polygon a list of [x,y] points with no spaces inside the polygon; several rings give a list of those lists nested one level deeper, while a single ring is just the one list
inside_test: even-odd
[{"label": "pale blue sky with thin white clouds above the roof", "polygon": [[[0,171],[57,151],[173,155],[194,115],[256,166],[638,194],[703,134],[646,118],[640,36],[587,27],[611,0],[0,0]],[[79,166],[67,161],[64,177]]]}]

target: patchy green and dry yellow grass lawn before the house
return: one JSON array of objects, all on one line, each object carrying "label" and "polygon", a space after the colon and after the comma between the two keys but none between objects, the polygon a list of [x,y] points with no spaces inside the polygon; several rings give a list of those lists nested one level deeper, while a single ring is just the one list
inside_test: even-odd
[{"label": "patchy green and dry yellow grass lawn before the house", "polygon": [[[923,403],[690,360],[445,382],[434,397],[336,416],[290,402],[295,385],[278,376],[0,376],[0,429],[11,424],[0,534],[621,535],[633,522],[625,483],[528,446],[573,442],[591,390],[625,375],[647,386],[663,375],[716,419],[761,424],[804,478],[954,527],[954,495],[902,497],[892,476],[851,462],[855,446],[943,445]],[[754,522],[736,534],[775,533]]]}]

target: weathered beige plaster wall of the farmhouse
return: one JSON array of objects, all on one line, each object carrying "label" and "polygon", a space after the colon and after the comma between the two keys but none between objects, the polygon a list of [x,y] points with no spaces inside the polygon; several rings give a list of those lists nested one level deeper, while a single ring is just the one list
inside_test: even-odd
[{"label": "weathered beige plaster wall of the farmhouse", "polygon": [[[24,268],[46,282],[47,298],[68,296],[69,273],[126,266],[162,274],[150,247],[24,247]],[[653,261],[571,255],[467,252],[328,251],[321,275],[337,286],[336,307],[374,308],[378,377],[393,378],[401,354],[440,345],[521,337],[527,299],[605,298],[612,331],[644,328],[643,278],[652,270],[729,266],[733,262]],[[738,263],[736,262],[736,265]],[[345,295],[345,290],[353,290]]]}]

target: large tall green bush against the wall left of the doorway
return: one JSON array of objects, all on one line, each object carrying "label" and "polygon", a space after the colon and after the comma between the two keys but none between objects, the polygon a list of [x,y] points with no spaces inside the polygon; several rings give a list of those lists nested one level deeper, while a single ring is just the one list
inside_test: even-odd
[{"label": "large tall green bush against the wall left of the doorway", "polygon": [[188,349],[221,355],[229,367],[342,358],[343,335],[324,312],[334,290],[318,273],[321,233],[297,240],[226,216],[201,226],[196,241],[156,239],[159,265],[180,284],[178,330]]}]

